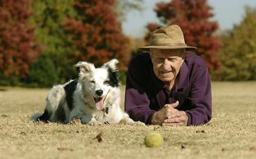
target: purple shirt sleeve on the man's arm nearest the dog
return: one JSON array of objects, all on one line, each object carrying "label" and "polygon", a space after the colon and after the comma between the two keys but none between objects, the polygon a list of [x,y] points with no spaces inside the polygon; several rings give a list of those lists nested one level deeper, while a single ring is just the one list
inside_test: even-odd
[{"label": "purple shirt sleeve on the man's arm nearest the dog", "polygon": [[131,62],[126,79],[124,108],[134,121],[150,124],[153,114],[156,112],[149,108],[150,99],[145,91],[145,76],[143,69],[134,66]]}]

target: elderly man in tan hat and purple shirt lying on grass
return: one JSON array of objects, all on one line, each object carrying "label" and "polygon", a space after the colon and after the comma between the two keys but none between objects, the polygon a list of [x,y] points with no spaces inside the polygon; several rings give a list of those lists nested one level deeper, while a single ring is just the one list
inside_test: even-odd
[{"label": "elderly man in tan hat and purple shirt lying on grass", "polygon": [[210,121],[212,94],[204,60],[185,51],[177,25],[157,26],[148,53],[134,57],[128,69],[125,110],[135,121],[164,126],[199,125]]}]

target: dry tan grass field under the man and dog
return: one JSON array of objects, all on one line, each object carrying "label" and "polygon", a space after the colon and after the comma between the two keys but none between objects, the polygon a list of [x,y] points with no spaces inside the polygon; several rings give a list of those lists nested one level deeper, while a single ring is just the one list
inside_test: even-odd
[{"label": "dry tan grass field under the man and dog", "polygon": [[[48,89],[0,88],[0,158],[255,158],[255,88],[256,82],[213,82],[208,125],[145,128],[32,122],[29,116],[44,110]],[[165,138],[158,149],[143,145],[144,135],[154,129]],[[99,143],[94,137],[100,132]]]}]

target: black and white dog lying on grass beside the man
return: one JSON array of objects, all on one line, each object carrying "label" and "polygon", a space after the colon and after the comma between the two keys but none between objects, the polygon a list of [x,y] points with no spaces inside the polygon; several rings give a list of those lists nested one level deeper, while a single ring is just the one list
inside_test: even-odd
[{"label": "black and white dog lying on grass beside the man", "polygon": [[120,83],[116,69],[117,59],[95,68],[92,63],[79,62],[79,78],[63,85],[53,86],[46,98],[43,114],[32,120],[70,123],[75,118],[92,126],[104,122],[145,125],[134,122],[120,108]]}]

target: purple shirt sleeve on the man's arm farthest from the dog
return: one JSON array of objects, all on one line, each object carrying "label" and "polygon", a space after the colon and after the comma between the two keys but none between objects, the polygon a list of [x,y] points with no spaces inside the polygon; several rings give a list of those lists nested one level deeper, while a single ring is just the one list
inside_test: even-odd
[{"label": "purple shirt sleeve on the man's arm farthest from the dog", "polygon": [[190,110],[186,110],[188,126],[209,122],[212,118],[212,91],[207,67],[200,67],[194,73],[188,101]]}]

